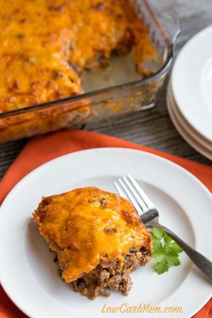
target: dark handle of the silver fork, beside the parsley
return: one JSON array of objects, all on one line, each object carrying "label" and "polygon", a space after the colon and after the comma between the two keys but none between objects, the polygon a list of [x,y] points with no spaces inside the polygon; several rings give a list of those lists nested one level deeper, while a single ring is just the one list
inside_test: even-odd
[{"label": "dark handle of the silver fork, beside the parsley", "polygon": [[201,253],[195,251],[192,247],[186,244],[182,239],[180,239],[176,234],[174,234],[167,227],[159,225],[164,229],[166,234],[170,236],[183,251],[188,255],[192,262],[201,270],[201,272],[210,280],[212,283],[212,262],[203,256]]}]

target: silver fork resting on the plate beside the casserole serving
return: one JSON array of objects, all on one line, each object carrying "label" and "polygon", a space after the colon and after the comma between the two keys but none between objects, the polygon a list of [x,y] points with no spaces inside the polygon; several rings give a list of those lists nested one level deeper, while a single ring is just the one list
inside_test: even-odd
[{"label": "silver fork resting on the plate beside the casserole serving", "polygon": [[158,226],[163,228],[166,234],[183,249],[192,262],[201,270],[210,282],[212,282],[212,262],[201,253],[195,251],[167,227],[159,224],[159,214],[157,209],[133,177],[130,174],[127,174],[127,177],[123,176],[122,179],[119,178],[119,183],[121,187],[118,183],[114,182],[118,194],[120,197],[129,199],[135,210],[138,211],[142,222],[147,227]]}]

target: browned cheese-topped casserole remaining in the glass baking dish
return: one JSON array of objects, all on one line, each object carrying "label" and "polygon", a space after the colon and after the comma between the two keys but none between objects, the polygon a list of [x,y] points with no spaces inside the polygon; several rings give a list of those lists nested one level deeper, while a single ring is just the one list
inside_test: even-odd
[{"label": "browned cheese-topped casserole remaining in the glass baking dish", "polygon": [[79,74],[154,51],[130,0],[0,0],[0,112],[82,93]]}]

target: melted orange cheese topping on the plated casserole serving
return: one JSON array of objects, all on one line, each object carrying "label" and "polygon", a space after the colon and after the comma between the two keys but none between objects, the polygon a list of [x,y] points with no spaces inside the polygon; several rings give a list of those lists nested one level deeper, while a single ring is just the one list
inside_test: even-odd
[{"label": "melted orange cheese topping on the plated casserole serving", "polygon": [[58,253],[66,282],[133,248],[152,251],[151,236],[132,204],[114,193],[94,187],[43,197],[33,213],[40,234]]}]

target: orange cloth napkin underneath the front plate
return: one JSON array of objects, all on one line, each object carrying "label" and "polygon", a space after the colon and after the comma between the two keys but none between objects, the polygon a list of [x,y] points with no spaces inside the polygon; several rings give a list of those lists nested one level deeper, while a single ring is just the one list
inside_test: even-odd
[{"label": "orange cloth napkin underneath the front plate", "polygon": [[[100,147],[139,149],[164,157],[190,171],[200,179],[210,191],[212,191],[212,167],[114,137],[83,130],[66,130],[34,137],[27,143],[0,183],[0,203],[21,178],[44,162],[70,152]],[[0,317],[27,317],[12,303],[4,293],[2,287],[0,287]],[[194,318],[212,318],[212,299],[196,315],[194,315]]]}]

